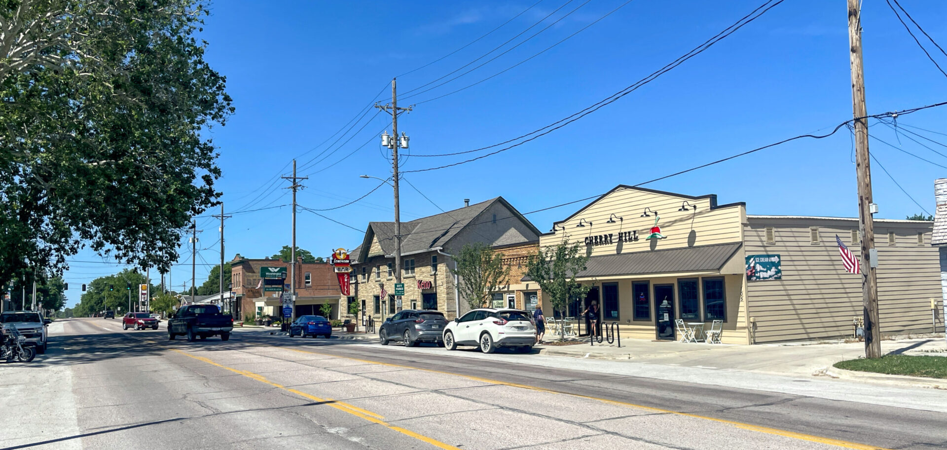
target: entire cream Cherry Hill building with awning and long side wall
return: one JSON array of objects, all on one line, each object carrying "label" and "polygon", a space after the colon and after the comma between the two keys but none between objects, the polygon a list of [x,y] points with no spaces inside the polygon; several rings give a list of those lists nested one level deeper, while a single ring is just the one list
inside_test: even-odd
[{"label": "entire cream Cherry Hill building with awning and long side wall", "polygon": [[[859,256],[857,229],[856,219],[747,216],[716,195],[618,186],[556,222],[540,246],[581,243],[590,257],[578,277],[590,292],[567,316],[595,300],[622,336],[676,339],[675,319],[705,329],[722,320],[724,343],[748,344],[852,334],[862,276],[846,272],[835,236]],[[932,223],[876,220],[875,231],[882,332],[929,332],[940,292]]]}]

